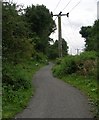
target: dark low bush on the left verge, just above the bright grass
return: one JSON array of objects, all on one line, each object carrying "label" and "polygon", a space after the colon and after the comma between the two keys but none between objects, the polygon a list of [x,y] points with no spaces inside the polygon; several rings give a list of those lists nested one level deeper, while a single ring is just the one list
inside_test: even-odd
[{"label": "dark low bush on the left verge, just above the bright grass", "polygon": [[13,90],[18,90],[19,88],[26,89],[30,87],[30,80],[27,77],[25,69],[22,69],[22,66],[6,64],[3,67],[2,73],[2,82],[4,86],[11,86]]}]

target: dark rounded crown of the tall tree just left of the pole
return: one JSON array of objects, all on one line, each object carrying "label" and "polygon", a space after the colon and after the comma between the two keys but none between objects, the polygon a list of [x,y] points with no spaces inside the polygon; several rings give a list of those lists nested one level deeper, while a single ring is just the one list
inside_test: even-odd
[{"label": "dark rounded crown of the tall tree just left of the pole", "polygon": [[29,25],[31,24],[31,30],[39,37],[50,35],[51,32],[54,32],[55,23],[49,10],[44,5],[27,7],[25,17]]}]

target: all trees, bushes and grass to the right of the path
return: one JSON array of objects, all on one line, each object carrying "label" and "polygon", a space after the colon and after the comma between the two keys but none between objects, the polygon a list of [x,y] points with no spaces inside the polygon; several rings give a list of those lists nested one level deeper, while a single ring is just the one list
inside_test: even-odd
[{"label": "all trees, bushes and grass to the right of the path", "polygon": [[[82,26],[79,33],[85,39],[85,52],[79,56],[56,60],[53,74],[65,82],[82,90],[89,96],[95,116],[99,117],[99,20],[92,26]],[[96,52],[97,51],[97,52]]]}]

